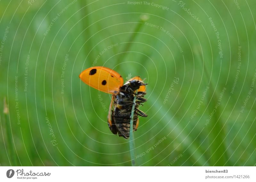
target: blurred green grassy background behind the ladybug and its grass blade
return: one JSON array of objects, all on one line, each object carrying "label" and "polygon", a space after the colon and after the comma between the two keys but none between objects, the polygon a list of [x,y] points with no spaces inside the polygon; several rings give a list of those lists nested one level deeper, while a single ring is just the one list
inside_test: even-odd
[{"label": "blurred green grassy background behind the ladybug and its grass blade", "polygon": [[146,78],[136,165],[255,165],[256,2],[146,2],[0,1],[1,166],[131,165],[91,66]]}]

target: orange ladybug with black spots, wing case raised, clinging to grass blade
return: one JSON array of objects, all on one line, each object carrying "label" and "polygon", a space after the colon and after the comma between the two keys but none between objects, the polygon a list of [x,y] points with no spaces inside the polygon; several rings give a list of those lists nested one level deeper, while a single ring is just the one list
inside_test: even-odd
[{"label": "orange ladybug with black spots, wing case raised, clinging to grass blade", "polygon": [[[132,105],[135,104],[133,115],[133,131],[139,125],[138,115],[147,117],[139,110],[141,103],[147,101],[146,86],[139,76],[136,76],[123,85],[123,78],[117,72],[107,67],[91,67],[84,70],[79,77],[89,86],[112,94],[108,112],[108,127],[114,134],[129,138]],[[135,103],[133,103],[136,97]]]}]

